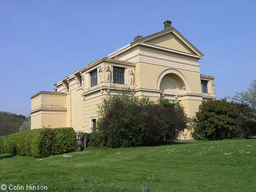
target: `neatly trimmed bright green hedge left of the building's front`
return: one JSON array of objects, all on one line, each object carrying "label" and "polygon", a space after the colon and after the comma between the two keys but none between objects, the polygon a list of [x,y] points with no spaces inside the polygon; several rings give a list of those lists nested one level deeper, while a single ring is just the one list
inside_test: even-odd
[{"label": "neatly trimmed bright green hedge left of the building's front", "polygon": [[0,137],[0,153],[47,157],[76,150],[72,127],[35,129]]}]

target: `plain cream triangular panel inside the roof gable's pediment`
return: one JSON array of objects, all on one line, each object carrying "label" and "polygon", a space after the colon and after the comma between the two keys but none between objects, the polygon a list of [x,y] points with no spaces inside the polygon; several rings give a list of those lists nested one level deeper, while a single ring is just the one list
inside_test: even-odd
[{"label": "plain cream triangular panel inside the roof gable's pediment", "polygon": [[176,35],[173,33],[165,34],[153,39],[146,41],[145,43],[149,43],[152,45],[157,45],[161,47],[165,47],[168,49],[181,51],[190,54],[196,54],[195,51],[190,49],[185,43],[183,43]]}]

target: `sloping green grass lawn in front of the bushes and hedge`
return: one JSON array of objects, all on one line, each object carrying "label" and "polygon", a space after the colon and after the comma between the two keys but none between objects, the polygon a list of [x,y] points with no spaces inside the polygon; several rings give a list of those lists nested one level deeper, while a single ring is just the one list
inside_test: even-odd
[{"label": "sloping green grass lawn in front of the bushes and hedge", "polygon": [[[0,185],[47,191],[256,191],[256,139],[87,149],[47,158],[0,154]],[[87,179],[83,182],[81,179]],[[14,191],[14,190],[12,190]],[[18,191],[18,190],[15,190]]]}]

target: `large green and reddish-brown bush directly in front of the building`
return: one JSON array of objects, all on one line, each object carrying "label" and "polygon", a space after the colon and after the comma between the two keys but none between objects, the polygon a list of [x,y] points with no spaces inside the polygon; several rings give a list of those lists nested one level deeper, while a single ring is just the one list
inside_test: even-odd
[{"label": "large green and reddish-brown bush directly in front of the building", "polygon": [[135,97],[132,91],[104,99],[98,106],[97,131],[90,145],[131,147],[159,145],[188,128],[189,118],[179,102]]}]

